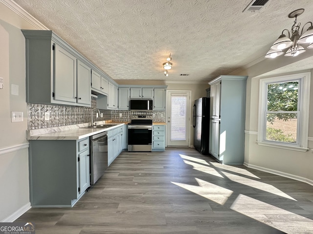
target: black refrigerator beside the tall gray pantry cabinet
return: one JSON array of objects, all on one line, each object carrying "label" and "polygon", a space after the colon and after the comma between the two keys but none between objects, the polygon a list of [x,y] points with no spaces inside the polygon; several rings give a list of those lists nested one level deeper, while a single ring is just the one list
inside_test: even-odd
[{"label": "black refrigerator beside the tall gray pantry cabinet", "polygon": [[195,100],[193,107],[194,147],[209,155],[210,98]]}]

